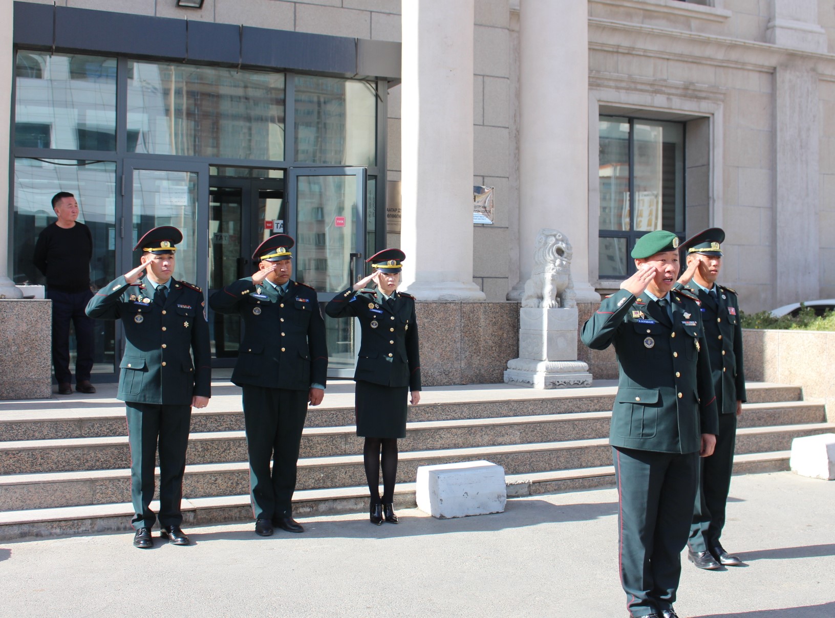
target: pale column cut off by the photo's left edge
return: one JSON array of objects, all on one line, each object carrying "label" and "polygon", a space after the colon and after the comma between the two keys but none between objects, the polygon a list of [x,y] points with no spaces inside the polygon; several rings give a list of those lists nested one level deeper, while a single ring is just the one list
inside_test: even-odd
[{"label": "pale column cut off by the photo's left edge", "polygon": [[[0,299],[19,299],[23,294],[14,287],[12,279],[8,278],[8,229],[11,210],[8,209],[8,140],[9,123],[12,118],[12,69],[14,67],[14,50],[12,48],[13,4],[0,3],[0,83],[6,84],[3,95],[0,95],[0,204],[3,212],[0,214],[0,239],[5,239],[3,249],[0,249]],[[3,24],[6,24],[5,26]],[[8,88],[8,90],[6,90]]]}]

